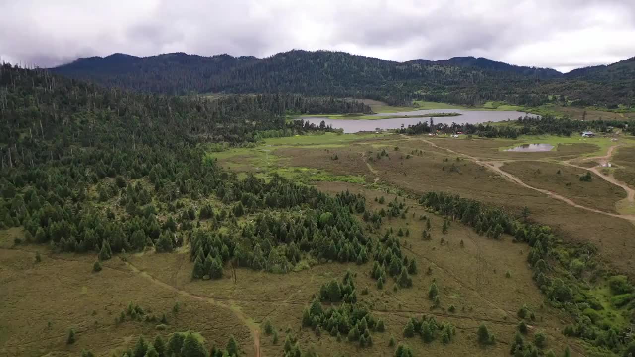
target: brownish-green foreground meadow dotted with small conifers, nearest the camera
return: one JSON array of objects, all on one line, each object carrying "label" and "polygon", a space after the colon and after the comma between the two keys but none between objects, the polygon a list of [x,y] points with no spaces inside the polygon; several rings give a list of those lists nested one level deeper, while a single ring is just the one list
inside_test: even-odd
[{"label": "brownish-green foreground meadow dotted with small conifers, nearest the camera", "polygon": [[[372,209],[387,207],[373,201],[385,193],[366,189],[358,184],[319,184],[327,192],[350,190],[361,192]],[[387,197],[388,200],[394,197]],[[180,330],[195,330],[206,339],[208,347],[224,346],[234,335],[244,356],[253,356],[250,329],[262,329],[268,319],[279,335],[274,343],[271,335],[260,333],[261,356],[279,356],[287,334],[298,337],[301,346],[311,346],[321,356],[337,355],[386,356],[394,347],[389,339],[406,342],[415,354],[469,354],[473,356],[502,356],[507,353],[505,342],[512,339],[519,319],[516,311],[523,305],[535,311],[531,331],[544,330],[549,347],[561,351],[566,345],[575,348],[576,342],[559,333],[568,317],[545,306],[542,296],[531,280],[525,264],[528,252],[512,243],[483,239],[460,223],[452,224],[446,234],[441,232],[443,219],[435,217],[415,201],[406,200],[410,212],[405,219],[392,219],[385,229],[408,229],[403,238],[405,252],[417,259],[419,273],[413,275],[413,288],[392,290],[392,281],[384,289],[375,287],[369,276],[370,263],[363,265],[320,264],[297,273],[271,274],[237,269],[235,280],[229,269],[224,279],[217,281],[190,280],[192,262],[185,252],[154,253],[151,250],[104,264],[104,270],[92,273],[94,257],[48,253],[42,246],[20,246],[13,249],[10,237],[3,237],[0,267],[4,291],[29,292],[3,294],[8,308],[0,311],[4,323],[2,353],[7,356],[30,356],[38,351],[53,351],[53,355],[77,355],[81,349],[91,349],[99,356],[117,353],[132,347],[140,334],[154,339],[158,333],[167,337]],[[431,220],[430,241],[421,239],[424,222],[420,215]],[[20,232],[11,234],[19,235]],[[441,242],[443,238],[443,242]],[[42,262],[34,261],[34,252],[43,255]],[[457,259],[460,257],[460,259]],[[476,267],[476,272],[474,274]],[[302,309],[311,302],[312,295],[326,281],[341,278],[350,269],[361,290],[359,295],[371,313],[385,321],[386,331],[373,332],[373,347],[361,348],[349,342],[337,342],[323,333],[316,335],[310,328],[300,328]],[[429,269],[429,273],[427,273]],[[512,278],[505,278],[509,271]],[[55,279],[51,279],[55,276]],[[425,290],[435,280],[439,286],[441,306],[432,308]],[[262,284],[267,281],[267,284]],[[69,289],[72,286],[72,289]],[[52,299],[41,299],[47,292],[62,292]],[[114,318],[129,302],[138,303],[154,314],[165,313],[168,324],[157,330],[156,323],[126,321],[116,324]],[[173,311],[179,303],[178,313]],[[453,312],[448,311],[453,306]],[[450,344],[440,341],[425,344],[419,338],[403,337],[406,321],[411,316],[434,316],[438,321],[455,325],[457,335]],[[44,317],[43,317],[44,316]],[[485,322],[495,333],[497,344],[481,347],[476,342],[476,329]],[[32,337],[34,326],[37,338]],[[67,330],[77,330],[77,342],[65,344]]]}]

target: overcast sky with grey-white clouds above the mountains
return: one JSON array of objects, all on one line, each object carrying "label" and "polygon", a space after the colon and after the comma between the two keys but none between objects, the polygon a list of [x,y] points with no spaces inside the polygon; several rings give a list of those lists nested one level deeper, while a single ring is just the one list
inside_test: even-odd
[{"label": "overcast sky with grey-white clouds above the mountains", "polygon": [[635,56],[635,0],[0,0],[0,56],[487,57],[569,71]]}]

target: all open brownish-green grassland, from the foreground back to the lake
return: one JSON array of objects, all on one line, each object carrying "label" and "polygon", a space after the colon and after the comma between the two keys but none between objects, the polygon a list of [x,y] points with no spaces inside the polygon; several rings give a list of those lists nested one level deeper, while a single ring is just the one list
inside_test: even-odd
[{"label": "all open brownish-green grassland, from the foreground back to the lake", "polygon": [[[502,151],[537,142],[556,147],[548,152]],[[599,177],[580,182],[578,177],[585,169],[567,166],[563,160],[577,162],[575,159],[605,155],[610,146],[627,142],[625,138],[429,139],[328,133],[270,138],[255,147],[210,151],[204,159],[215,159],[241,175],[255,173],[266,179],[276,173],[333,194],[360,193],[371,211],[389,208],[388,203],[396,198],[391,192],[416,198],[425,191],[452,192],[514,214],[526,207],[528,219],[553,227],[558,237],[572,246],[592,243],[607,269],[632,278],[635,241],[630,239],[634,231],[631,221],[573,207],[487,166],[500,167],[527,185],[556,192],[579,205],[615,214],[615,205],[624,200],[625,192]],[[615,177],[629,178],[634,156],[632,147],[618,148],[612,160],[618,165],[613,169]],[[382,196],[383,204],[378,202]],[[399,237],[401,247],[408,257],[416,259],[418,273],[412,275],[412,288],[396,290],[392,278],[383,289],[377,288],[370,276],[371,262],[316,264],[307,259],[305,269],[288,274],[239,267],[233,276],[231,269],[225,269],[221,280],[192,280],[193,263],[187,247],[175,253],[149,249],[121,255],[93,273],[94,256],[53,253],[48,246],[15,246],[13,240],[23,237],[22,229],[0,231],[0,299],[4,302],[0,309],[0,356],[38,356],[45,351],[49,356],[75,356],[82,349],[110,356],[132,347],[140,334],[148,339],[160,334],[167,339],[171,332],[185,330],[200,332],[208,348],[224,346],[233,335],[244,356],[256,354],[255,340],[259,341],[260,356],[279,356],[290,334],[297,336],[300,346],[321,356],[334,355],[333,351],[342,356],[389,356],[394,353],[394,346],[389,346],[391,336],[419,356],[506,356],[520,321],[517,311],[523,305],[535,314],[535,320],[528,321],[526,341],[544,331],[547,349],[557,354],[570,346],[574,356],[596,355],[589,353],[588,345],[561,333],[573,321],[569,314],[545,302],[527,264],[527,245],[514,243],[511,236],[500,240],[479,236],[458,221],[451,221],[444,234],[443,217],[428,212],[415,199],[398,200],[408,208],[403,217],[386,217],[380,229],[369,224],[365,231],[377,237],[388,229],[404,232]],[[223,205],[213,201],[213,206]],[[422,239],[427,223],[420,217],[424,215],[431,224],[430,240]],[[243,217],[238,224],[252,219]],[[41,262],[35,261],[36,252],[42,256]],[[570,252],[563,248],[559,253]],[[326,331],[318,335],[301,327],[302,311],[320,286],[333,278],[341,279],[349,269],[355,274],[358,292],[368,286],[368,293],[360,293],[358,300],[386,324],[385,332],[372,333],[373,347],[338,342]],[[426,295],[433,280],[439,286],[439,307]],[[604,307],[600,318],[618,326],[627,322],[622,310],[612,305],[605,282],[597,281],[589,293]],[[168,323],[161,328],[154,322],[116,323],[114,319],[130,302],[157,316],[165,313]],[[452,342],[426,344],[419,337],[404,337],[408,318],[421,316],[455,325],[457,334]],[[277,342],[264,333],[265,320],[272,322]],[[477,342],[481,323],[495,333],[493,346]],[[69,345],[65,339],[70,328],[76,329],[77,342]]]}]

